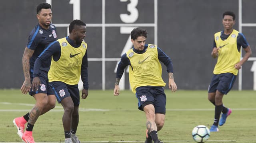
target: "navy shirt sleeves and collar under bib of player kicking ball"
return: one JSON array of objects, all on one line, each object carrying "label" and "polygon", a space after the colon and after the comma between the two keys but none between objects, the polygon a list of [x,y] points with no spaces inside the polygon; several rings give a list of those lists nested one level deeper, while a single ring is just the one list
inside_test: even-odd
[{"label": "navy shirt sleeves and collar under bib of player kicking ball", "polygon": [[[132,50],[135,53],[138,54],[142,54],[145,53],[146,50],[148,49],[148,45],[146,44],[144,46],[144,50],[143,51],[138,51],[136,49],[134,49],[134,47],[132,47]],[[157,47],[157,52],[158,52],[158,59],[159,61],[161,61],[162,63],[164,63],[164,65],[166,65],[167,68],[167,72],[172,72],[173,73],[173,67],[172,67],[172,60],[170,59],[170,57],[168,57],[164,51],[162,51],[159,47]],[[124,53],[124,55],[122,55],[121,57],[121,61],[118,63],[118,68],[116,70],[116,78],[121,78],[123,73],[124,73],[124,69],[126,66],[131,65],[130,60],[128,59],[126,53]]]}]

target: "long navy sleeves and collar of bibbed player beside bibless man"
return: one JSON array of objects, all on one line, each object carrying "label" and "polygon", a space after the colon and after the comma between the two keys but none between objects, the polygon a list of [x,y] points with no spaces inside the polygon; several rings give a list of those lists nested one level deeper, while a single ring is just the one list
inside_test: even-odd
[{"label": "long navy sleeves and collar of bibbed player beside bibless man", "polygon": [[[66,39],[67,39],[68,43],[70,45],[72,45],[72,47],[74,47],[74,48],[80,47],[80,45],[75,45],[74,41],[72,41],[69,37],[66,37]],[[54,61],[58,61],[60,59],[60,55],[61,55],[60,43],[58,41],[51,43],[36,59],[33,77],[38,76],[39,69],[40,69],[40,67],[42,67],[42,64],[44,61],[49,59],[49,57],[51,57],[51,56]],[[89,88],[89,86],[88,86],[88,70],[87,69],[88,69],[88,57],[87,57],[87,50],[86,50],[86,53],[82,59],[82,67],[81,67],[81,78],[84,83],[83,84],[84,89]]]}]

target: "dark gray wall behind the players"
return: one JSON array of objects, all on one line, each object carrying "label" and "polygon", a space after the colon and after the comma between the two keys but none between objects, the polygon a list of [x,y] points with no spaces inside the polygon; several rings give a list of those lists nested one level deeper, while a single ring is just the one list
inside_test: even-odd
[{"label": "dark gray wall behind the players", "polygon": [[[53,24],[69,24],[73,20],[70,0],[52,0]],[[20,88],[24,76],[22,55],[28,34],[37,24],[36,6],[45,0],[0,1],[0,88]],[[86,24],[102,24],[102,0],[81,0],[81,20]],[[124,24],[120,14],[126,13],[128,2],[106,0],[106,24]],[[236,14],[238,30],[238,0],[158,0],[158,47],[169,55],[174,65],[174,79],[179,89],[206,90],[212,77],[216,60],[210,53],[214,33],[223,29],[222,13]],[[242,23],[256,23],[255,0],[242,0]],[[135,24],[154,23],[154,0],[138,0],[139,12]],[[147,42],[154,43],[154,27],[141,26],[149,32]],[[66,27],[57,27],[58,38],[66,36]],[[120,34],[120,27],[106,27],[106,58],[120,58],[129,34]],[[243,27],[242,33],[256,57],[256,27]],[[102,27],[87,27],[88,57],[102,57]],[[242,89],[253,89],[253,61],[242,69]],[[106,89],[114,88],[116,61],[106,61]],[[126,88],[128,73],[125,73]],[[166,67],[163,78],[167,80]],[[89,61],[90,89],[102,89],[102,61]],[[234,89],[238,89],[238,78]]]}]

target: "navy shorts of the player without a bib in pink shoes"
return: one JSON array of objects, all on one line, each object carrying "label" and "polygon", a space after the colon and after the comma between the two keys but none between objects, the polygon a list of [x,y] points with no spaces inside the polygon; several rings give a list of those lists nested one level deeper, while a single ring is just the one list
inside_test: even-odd
[{"label": "navy shorts of the player without a bib in pink shoes", "polygon": [[[32,75],[32,74],[30,74],[30,75]],[[34,95],[34,94],[38,94],[38,93],[45,93],[47,95],[54,95],[54,92],[53,92],[52,88],[50,88],[50,86],[49,86],[47,72],[45,72],[45,74],[39,74],[38,77],[40,78],[40,86],[38,86],[38,90],[32,91],[32,88],[31,88],[28,93],[31,96]],[[33,77],[30,76],[30,83],[32,83],[32,81],[33,81]]]}]

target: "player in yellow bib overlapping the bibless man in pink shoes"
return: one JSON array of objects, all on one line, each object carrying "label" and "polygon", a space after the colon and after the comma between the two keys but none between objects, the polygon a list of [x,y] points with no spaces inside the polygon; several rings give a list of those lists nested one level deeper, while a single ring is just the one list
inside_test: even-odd
[{"label": "player in yellow bib overlapping the bibless man in pink shoes", "polygon": [[78,82],[80,74],[84,86],[82,99],[88,96],[87,44],[83,41],[86,34],[86,24],[81,20],[72,21],[69,25],[69,33],[68,37],[51,43],[36,59],[32,88],[36,88],[40,84],[38,71],[42,67],[43,61],[52,57],[48,78],[58,103],[64,108],[62,122],[65,143],[80,143],[76,137],[79,121]]}]

